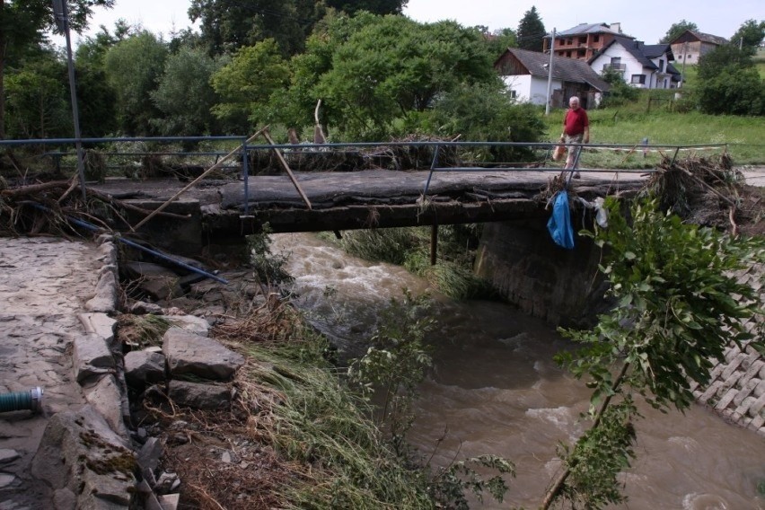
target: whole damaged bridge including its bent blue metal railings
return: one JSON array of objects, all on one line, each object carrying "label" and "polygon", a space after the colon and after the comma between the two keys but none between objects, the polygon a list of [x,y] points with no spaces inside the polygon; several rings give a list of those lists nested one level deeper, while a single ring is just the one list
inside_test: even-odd
[{"label": "whole damaged bridge including its bent blue metal railings", "polygon": [[[350,229],[546,217],[550,214],[546,210],[547,200],[564,183],[574,187],[578,197],[591,200],[634,191],[642,185],[646,173],[654,171],[598,169],[588,160],[587,168],[577,168],[582,178],[571,180],[572,172],[561,173],[562,164],[550,159],[554,143],[418,141],[279,145],[267,129],[259,134],[266,137],[268,144],[253,144],[258,134],[247,140],[235,136],[83,139],[80,142],[90,147],[103,144],[156,146],[159,143],[177,147],[178,143],[197,142],[241,144],[227,154],[183,152],[177,148],[174,153],[157,149],[134,149],[132,153],[101,150],[99,157],[102,158],[132,156],[134,166],[136,158],[140,158],[137,161],[142,172],[145,167],[159,166],[159,158],[166,155],[188,160],[196,157],[197,161],[199,157],[207,157],[207,161],[215,157],[215,164],[207,169],[185,163],[169,167],[171,174],[183,173],[183,180],[111,177],[101,183],[87,183],[87,188],[144,211],[156,213],[166,208],[166,212],[174,214],[173,218],[158,214],[147,217],[145,213],[128,211],[127,221],[114,228],[123,233],[145,233],[161,248],[180,246],[189,254],[198,253],[203,243],[226,243],[258,233],[265,224],[274,233],[334,231],[339,234]],[[26,143],[60,147],[77,141],[0,141],[0,145]],[[583,149],[578,152],[575,168],[581,154],[589,157],[602,151],[642,153],[642,157],[648,152],[662,153],[676,158],[681,151],[723,148],[572,145],[575,147]],[[486,163],[476,156],[481,151],[523,154],[525,163]],[[73,153],[66,151],[50,151],[43,156],[50,157],[58,171],[62,170],[66,158],[69,162],[73,159]],[[293,170],[305,167],[306,162],[320,164],[313,164],[311,171]],[[317,167],[331,171],[317,171]],[[411,170],[406,170],[409,168]],[[82,172],[82,168],[80,170]],[[194,180],[189,182],[192,177]],[[84,182],[84,177],[81,181]]]}]

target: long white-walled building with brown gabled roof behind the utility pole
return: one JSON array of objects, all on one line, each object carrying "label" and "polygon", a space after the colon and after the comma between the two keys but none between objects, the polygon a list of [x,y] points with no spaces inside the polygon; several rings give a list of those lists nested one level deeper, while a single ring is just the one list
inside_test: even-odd
[{"label": "long white-walled building with brown gabled roof behind the utility pole", "polygon": [[[520,48],[507,48],[494,63],[515,99],[533,104],[547,102],[549,66],[550,55]],[[594,108],[600,102],[602,92],[609,88],[610,85],[584,60],[553,56],[551,106],[564,107],[568,99],[576,95],[583,107]]]}]

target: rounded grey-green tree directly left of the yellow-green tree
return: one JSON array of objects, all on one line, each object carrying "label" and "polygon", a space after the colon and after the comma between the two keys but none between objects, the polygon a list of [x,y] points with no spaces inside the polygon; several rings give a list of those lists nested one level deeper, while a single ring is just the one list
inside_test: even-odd
[{"label": "rounded grey-green tree directly left of the yellow-green tree", "polygon": [[[167,57],[164,72],[152,101],[162,112],[152,125],[165,136],[202,136],[214,134],[217,119],[212,108],[217,94],[210,84],[220,67],[204,48],[181,47]],[[191,101],[189,101],[191,99]]]}]

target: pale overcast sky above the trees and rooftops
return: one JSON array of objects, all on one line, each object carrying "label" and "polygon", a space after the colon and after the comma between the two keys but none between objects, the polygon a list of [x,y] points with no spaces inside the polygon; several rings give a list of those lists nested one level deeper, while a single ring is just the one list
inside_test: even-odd
[{"label": "pale overcast sky above the trees and rooftops", "polygon": [[[91,31],[98,31],[101,24],[111,31],[114,22],[124,18],[167,36],[173,28],[190,25],[189,4],[190,0],[117,0],[113,9],[96,9]],[[748,19],[765,19],[763,0],[409,0],[404,13],[418,22],[447,19],[463,26],[485,25],[494,31],[516,29],[532,5],[547,31],[563,31],[579,23],[620,22],[622,31],[647,44],[657,43],[674,22],[683,19],[696,23],[699,31],[725,38]]]}]

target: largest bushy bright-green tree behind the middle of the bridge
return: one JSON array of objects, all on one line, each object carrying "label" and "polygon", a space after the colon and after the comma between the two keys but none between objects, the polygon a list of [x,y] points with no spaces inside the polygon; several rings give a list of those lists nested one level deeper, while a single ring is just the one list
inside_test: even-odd
[{"label": "largest bushy bright-green tree behind the middle of the bridge", "polygon": [[[327,33],[336,39],[311,43],[315,53],[295,72],[298,91],[287,95],[321,99],[323,119],[354,139],[390,136],[396,119],[427,110],[458,84],[498,80],[479,31],[456,22],[367,14],[351,24],[339,18]],[[307,66],[319,74],[308,75]]]}]

